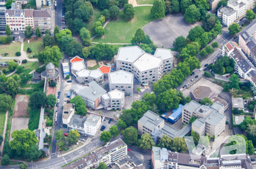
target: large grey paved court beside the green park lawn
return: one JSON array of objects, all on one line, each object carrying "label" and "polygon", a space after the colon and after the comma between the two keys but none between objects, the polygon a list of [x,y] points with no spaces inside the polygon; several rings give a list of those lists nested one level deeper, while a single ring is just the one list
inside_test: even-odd
[{"label": "large grey paved court beside the green park lawn", "polygon": [[182,14],[176,14],[151,22],[144,26],[143,30],[158,47],[173,48],[175,38],[180,35],[186,38],[192,28]]}]

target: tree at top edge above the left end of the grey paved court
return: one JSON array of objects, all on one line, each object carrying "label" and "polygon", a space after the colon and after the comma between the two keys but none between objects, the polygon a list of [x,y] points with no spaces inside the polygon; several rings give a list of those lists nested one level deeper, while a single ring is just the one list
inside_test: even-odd
[{"label": "tree at top edge above the left end of the grey paved court", "polygon": [[154,0],[153,6],[151,8],[151,15],[156,20],[159,20],[165,16],[165,9],[162,0]]}]

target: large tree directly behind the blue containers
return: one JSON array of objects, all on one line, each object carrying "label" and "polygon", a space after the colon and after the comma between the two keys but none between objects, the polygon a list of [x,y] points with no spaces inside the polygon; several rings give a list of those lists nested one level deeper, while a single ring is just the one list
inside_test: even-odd
[{"label": "large tree directly behind the blue containers", "polygon": [[180,98],[176,96],[176,90],[170,89],[158,95],[157,105],[163,112],[179,107]]}]

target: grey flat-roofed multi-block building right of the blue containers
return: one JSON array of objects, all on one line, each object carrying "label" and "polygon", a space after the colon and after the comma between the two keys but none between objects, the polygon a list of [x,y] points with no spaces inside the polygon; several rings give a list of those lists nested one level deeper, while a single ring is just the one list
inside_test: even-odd
[{"label": "grey flat-roofed multi-block building right of the blue containers", "polygon": [[223,115],[224,106],[215,102],[213,106],[200,105],[196,101],[190,101],[183,106],[182,123],[189,123],[191,117],[197,119],[192,123],[192,129],[200,136],[218,136],[225,130],[226,116]]}]

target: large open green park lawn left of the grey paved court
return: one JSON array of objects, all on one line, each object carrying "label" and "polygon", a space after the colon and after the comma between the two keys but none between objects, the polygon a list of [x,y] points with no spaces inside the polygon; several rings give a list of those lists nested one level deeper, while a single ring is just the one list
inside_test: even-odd
[{"label": "large open green park lawn left of the grey paved court", "polygon": [[142,28],[153,18],[150,16],[150,9],[152,6],[138,6],[135,7],[135,16],[133,20],[127,22],[122,18],[122,12],[118,21],[110,21],[105,27],[104,37],[95,37],[93,42],[103,43],[131,43],[138,28]]}]

